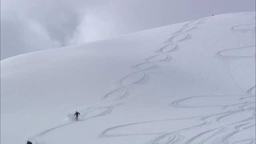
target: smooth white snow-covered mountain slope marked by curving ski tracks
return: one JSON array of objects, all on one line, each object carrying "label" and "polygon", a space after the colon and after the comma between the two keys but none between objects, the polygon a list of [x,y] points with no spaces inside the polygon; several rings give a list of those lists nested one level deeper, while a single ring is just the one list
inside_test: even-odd
[{"label": "smooth white snow-covered mountain slope marked by curving ski tracks", "polygon": [[255,144],[255,20],[214,15],[2,60],[0,142]]}]

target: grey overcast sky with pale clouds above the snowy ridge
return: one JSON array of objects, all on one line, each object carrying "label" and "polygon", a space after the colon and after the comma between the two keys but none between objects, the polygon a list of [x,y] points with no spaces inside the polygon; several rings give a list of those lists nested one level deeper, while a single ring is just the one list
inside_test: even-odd
[{"label": "grey overcast sky with pale clouds above the snowy ridge", "polygon": [[1,60],[230,12],[255,0],[1,0]]}]

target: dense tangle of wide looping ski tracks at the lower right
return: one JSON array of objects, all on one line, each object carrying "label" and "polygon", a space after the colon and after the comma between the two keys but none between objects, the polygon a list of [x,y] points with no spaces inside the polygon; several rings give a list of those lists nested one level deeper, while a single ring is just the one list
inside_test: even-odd
[{"label": "dense tangle of wide looping ski tracks at the lower right", "polygon": [[[235,98],[237,100],[240,100],[239,103],[237,104],[230,104],[230,105],[211,105],[211,106],[198,106],[198,105],[184,105],[182,102],[190,99],[197,99],[197,98],[202,98],[202,97],[214,97],[214,98],[219,98],[219,97],[226,97],[226,98]],[[246,99],[252,99],[252,100],[246,100]],[[196,101],[196,100],[194,100]],[[170,106],[174,106],[176,108],[206,108],[206,107],[222,107],[226,109],[226,112],[220,112],[217,114],[208,114],[204,116],[197,116],[197,117],[188,117],[188,118],[181,118],[181,119],[169,119],[169,120],[158,120],[158,121],[150,121],[150,122],[138,122],[138,123],[132,123],[132,124],[125,124],[121,126],[115,126],[112,128],[108,128],[104,130],[100,134],[101,137],[118,137],[118,136],[138,136],[138,135],[160,135],[158,136],[155,140],[152,140],[148,142],[148,144],[191,144],[191,143],[196,143],[196,144],[207,144],[207,141],[210,140],[211,138],[215,138],[218,136],[218,134],[222,134],[219,138],[220,143],[226,144],[226,143],[234,143],[241,141],[236,140],[233,138],[235,135],[242,135],[246,134],[247,136],[250,136],[251,139],[247,139],[246,141],[250,141],[249,143],[254,143],[255,142],[255,137],[248,133],[245,132],[244,130],[249,129],[249,128],[254,128],[255,127],[255,107],[247,107],[249,105],[255,105],[255,96],[254,95],[245,95],[245,96],[193,96],[189,98],[184,98],[181,100],[177,100],[175,102],[172,102]],[[247,114],[247,112],[250,112],[252,115]],[[240,120],[238,117],[236,117],[237,114],[245,114],[246,117]],[[180,129],[174,132],[148,132],[148,133],[140,133],[140,134],[121,134],[121,133],[114,133],[115,130],[118,130],[119,128],[125,128],[133,125],[138,125],[137,127],[140,127],[140,124],[152,124],[154,125],[155,122],[163,122],[163,121],[172,121],[174,120],[185,120],[185,119],[198,119],[199,121],[202,121],[202,124],[198,124],[196,126]],[[227,119],[238,119],[238,121],[226,124],[225,121]],[[220,126],[216,128],[210,128],[206,129],[207,125],[217,122]],[[242,126],[247,125],[246,128],[242,128]],[[200,129],[201,128],[201,129]],[[203,130],[203,131],[198,131],[198,129]],[[193,131],[194,136],[188,139],[188,136],[185,134],[183,135],[183,132],[186,131]],[[122,132],[122,130],[120,130]],[[197,132],[197,133],[196,133]],[[211,133],[211,134],[210,134]],[[187,138],[187,139],[185,139]],[[233,142],[231,142],[231,140]]]}]

